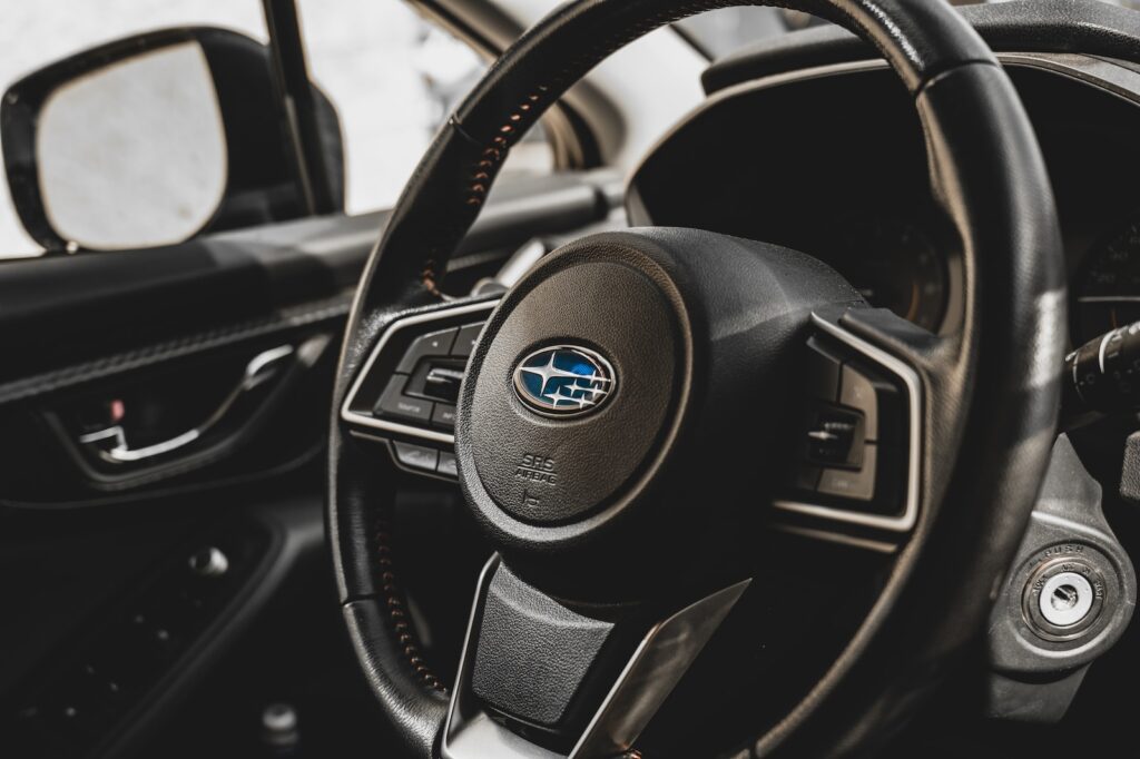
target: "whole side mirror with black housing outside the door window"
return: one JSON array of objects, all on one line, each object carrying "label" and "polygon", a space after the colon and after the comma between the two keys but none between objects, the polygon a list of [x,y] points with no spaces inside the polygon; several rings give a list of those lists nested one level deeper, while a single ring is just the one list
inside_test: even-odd
[{"label": "whole side mirror with black housing outside the door window", "polygon": [[[340,123],[314,89],[343,207]],[[266,46],[176,28],[16,82],[0,101],[0,142],[16,211],[44,250],[154,247],[306,214],[286,119]]]}]

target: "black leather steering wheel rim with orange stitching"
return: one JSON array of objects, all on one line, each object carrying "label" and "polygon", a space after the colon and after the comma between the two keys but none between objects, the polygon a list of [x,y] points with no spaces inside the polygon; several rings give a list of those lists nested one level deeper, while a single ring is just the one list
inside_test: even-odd
[{"label": "black leather steering wheel rim with orange stitching", "polygon": [[[1011,83],[947,5],[584,0],[554,10],[491,67],[405,188],[360,281],[334,408],[386,326],[447,305],[439,289],[447,260],[511,146],[542,113],[626,43],[685,16],[736,5],[805,10],[877,47],[914,98],[935,195],[963,254],[958,334],[936,337],[874,310],[841,319],[921,379],[921,507],[871,615],[757,748],[844,753],[872,741],[976,642],[1056,429],[1066,299],[1050,185]],[[375,458],[335,418],[328,528],[345,622],[385,716],[413,752],[433,756],[448,694],[422,661],[405,611],[386,517],[392,498]]]}]

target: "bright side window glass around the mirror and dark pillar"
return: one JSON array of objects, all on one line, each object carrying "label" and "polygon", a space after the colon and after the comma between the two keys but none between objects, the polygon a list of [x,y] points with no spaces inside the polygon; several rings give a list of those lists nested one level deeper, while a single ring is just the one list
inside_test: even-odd
[{"label": "bright side window glass around the mirror and dark pillar", "polygon": [[[0,89],[60,58],[123,36],[219,26],[268,41],[260,0],[0,0]],[[488,65],[465,43],[396,0],[299,0],[310,74],[335,107],[345,162],[345,206],[391,206],[432,134]],[[549,172],[553,152],[534,130],[511,172]],[[0,180],[0,258],[36,255],[7,181]]]}]

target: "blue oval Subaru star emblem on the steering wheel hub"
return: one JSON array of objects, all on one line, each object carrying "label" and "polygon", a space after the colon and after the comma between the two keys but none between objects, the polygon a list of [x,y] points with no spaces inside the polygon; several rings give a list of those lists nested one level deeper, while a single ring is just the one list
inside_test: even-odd
[{"label": "blue oval Subaru star emblem on the steering wheel hub", "polygon": [[576,345],[544,348],[514,370],[514,391],[546,416],[594,411],[617,390],[613,367],[595,351]]}]

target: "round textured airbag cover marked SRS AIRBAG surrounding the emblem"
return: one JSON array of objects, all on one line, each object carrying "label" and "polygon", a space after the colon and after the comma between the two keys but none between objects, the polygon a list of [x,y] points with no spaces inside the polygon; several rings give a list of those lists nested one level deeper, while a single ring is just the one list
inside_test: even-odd
[{"label": "round textured airbag cover marked SRS AIRBAG surrounding the emblem", "polygon": [[[657,264],[638,266],[629,251],[567,253],[504,301],[469,378],[478,476],[500,508],[532,524],[571,522],[618,497],[654,451],[677,390],[677,318]],[[515,369],[555,345],[612,366],[613,392],[596,410],[548,416],[520,399]]]}]

